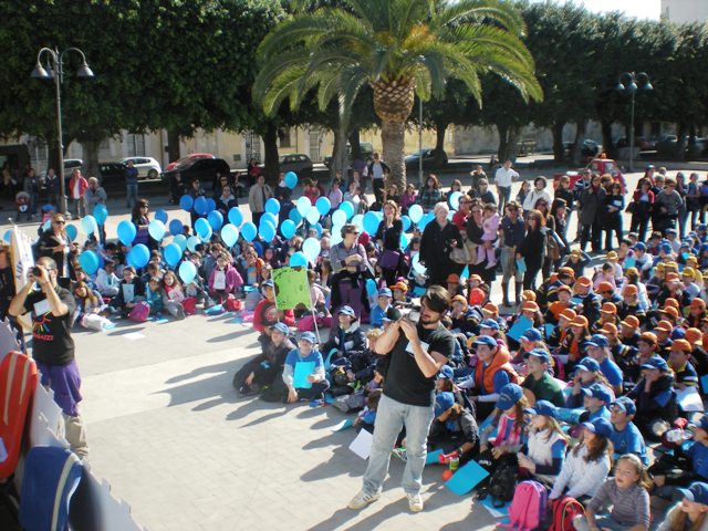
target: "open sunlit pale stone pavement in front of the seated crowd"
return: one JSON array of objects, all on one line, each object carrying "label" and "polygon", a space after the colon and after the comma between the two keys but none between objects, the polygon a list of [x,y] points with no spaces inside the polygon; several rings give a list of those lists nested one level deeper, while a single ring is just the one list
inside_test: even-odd
[{"label": "open sunlit pale stone pavement in front of the seated crowd", "polygon": [[[113,485],[150,530],[492,529],[471,496],[426,469],[423,513],[400,489],[392,459],[382,499],[361,512],[346,503],[365,461],[347,448],[353,430],[332,433],[332,407],[238,398],[231,378],[257,353],[256,333],[228,316],[164,324],[122,323],[74,335],[83,415],[97,477]],[[138,333],[140,339],[126,339]],[[127,335],[133,337],[133,335]]]}]

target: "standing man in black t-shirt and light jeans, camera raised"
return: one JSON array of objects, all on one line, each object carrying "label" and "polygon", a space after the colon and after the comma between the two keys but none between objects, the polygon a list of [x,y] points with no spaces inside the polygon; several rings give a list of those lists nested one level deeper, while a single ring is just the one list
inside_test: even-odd
[{"label": "standing man in black t-shirt and light jeans, camera raised", "polygon": [[406,428],[406,469],[403,488],[412,512],[423,510],[420,487],[427,452],[427,437],[434,417],[435,378],[455,351],[455,337],[440,322],[449,309],[450,295],[440,285],[428,288],[420,298],[420,316],[408,315],[392,323],[376,341],[375,351],[391,356],[383,396],[376,412],[374,442],[364,473],[364,487],[350,501],[358,510],[381,497],[391,452]]}]

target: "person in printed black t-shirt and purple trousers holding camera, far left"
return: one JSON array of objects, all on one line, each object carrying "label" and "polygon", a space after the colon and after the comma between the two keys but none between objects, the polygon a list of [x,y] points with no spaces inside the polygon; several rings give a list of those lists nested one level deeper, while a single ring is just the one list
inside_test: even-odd
[{"label": "person in printed black t-shirt and purple trousers holding camera, far left", "polygon": [[81,376],[71,337],[75,302],[71,292],[56,283],[56,262],[40,258],[30,271],[27,284],[12,299],[8,313],[17,317],[31,312],[32,357],[42,375],[42,385],[54,392],[54,402],[64,414],[66,440],[84,459],[88,456],[88,445],[79,415]]}]

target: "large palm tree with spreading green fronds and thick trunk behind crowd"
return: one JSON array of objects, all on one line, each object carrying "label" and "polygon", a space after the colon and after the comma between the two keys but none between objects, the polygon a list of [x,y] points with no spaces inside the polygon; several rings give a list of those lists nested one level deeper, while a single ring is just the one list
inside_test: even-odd
[{"label": "large palm tree with spreading green fronds and thick trunk behind crowd", "polygon": [[540,101],[534,63],[520,37],[521,15],[503,0],[344,0],[282,20],[259,48],[253,94],[267,114],[290,98],[296,108],[316,87],[324,110],[340,105],[340,133],[364,84],[382,121],[383,158],[405,189],[405,124],[414,95],[442,95],[461,80],[481,104],[480,75],[494,72],[525,101]]}]

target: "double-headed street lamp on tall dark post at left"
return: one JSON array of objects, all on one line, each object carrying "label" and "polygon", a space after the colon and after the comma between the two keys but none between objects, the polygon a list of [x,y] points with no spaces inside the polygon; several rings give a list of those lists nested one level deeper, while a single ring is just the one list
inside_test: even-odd
[{"label": "double-headed street lamp on tall dark post at left", "polygon": [[[67,52],[76,52],[83,61],[76,71],[76,75],[79,77],[93,77],[93,72],[88,67],[84,52],[77,48],[67,48],[63,52],[60,52],[58,48],[54,48],[54,50],[42,48],[37,54],[37,64],[31,74],[32,77],[37,80],[54,80],[54,85],[56,86],[56,140],[59,147],[59,189],[61,195],[59,208],[62,214],[66,212],[66,185],[64,183],[64,140],[62,134],[62,95],[60,86],[64,82],[64,54]],[[46,59],[46,67],[42,66],[42,54],[49,55]]]}]

